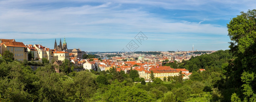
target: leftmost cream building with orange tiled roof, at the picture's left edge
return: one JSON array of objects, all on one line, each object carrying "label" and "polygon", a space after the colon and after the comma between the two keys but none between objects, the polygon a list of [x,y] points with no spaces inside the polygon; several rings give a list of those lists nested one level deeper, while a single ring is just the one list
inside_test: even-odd
[{"label": "leftmost cream building with orange tiled roof, at the picture's left edge", "polygon": [[16,42],[15,39],[1,39],[2,54],[9,50],[13,53],[14,60],[23,61],[27,59],[27,47],[22,42]]}]

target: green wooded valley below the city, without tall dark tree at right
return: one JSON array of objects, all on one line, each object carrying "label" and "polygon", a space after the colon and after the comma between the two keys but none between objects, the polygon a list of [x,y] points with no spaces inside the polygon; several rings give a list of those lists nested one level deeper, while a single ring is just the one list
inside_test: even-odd
[{"label": "green wooded valley below the city, without tall dark tree at right", "polygon": [[[221,50],[205,54],[202,58],[197,56],[183,66],[194,66],[190,65],[194,59],[205,60],[205,57],[216,56],[214,60],[219,60],[229,58],[230,55],[229,51]],[[203,63],[204,60],[199,60],[199,63]],[[159,78],[152,78],[152,83],[145,83],[143,78],[139,78],[138,71],[132,69],[127,74],[124,71],[117,72],[115,68],[108,71],[75,72],[69,70],[73,65],[66,61],[61,66],[44,63],[36,71],[32,71],[26,60],[14,61],[13,58],[4,57],[0,62],[0,100],[3,101],[175,102],[189,101],[193,97],[205,98],[205,95],[215,95],[203,99],[205,101],[221,100],[221,97],[216,96],[221,96],[217,87],[222,86],[219,85],[223,78],[222,66],[215,63],[208,64],[207,71],[193,71],[188,81],[183,81],[180,74],[177,77],[166,78],[165,82]],[[208,60],[206,62],[208,63]],[[55,67],[59,67],[62,73],[56,73]]]}]

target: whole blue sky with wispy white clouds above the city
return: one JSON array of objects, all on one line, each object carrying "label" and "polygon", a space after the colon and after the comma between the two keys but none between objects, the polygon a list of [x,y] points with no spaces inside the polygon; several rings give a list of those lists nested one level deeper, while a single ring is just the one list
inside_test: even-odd
[{"label": "whole blue sky with wispy white clouds above the city", "polygon": [[68,49],[102,52],[128,50],[141,31],[148,39],[136,51],[226,50],[226,24],[254,7],[254,0],[1,0],[0,38],[53,49],[66,37]]}]

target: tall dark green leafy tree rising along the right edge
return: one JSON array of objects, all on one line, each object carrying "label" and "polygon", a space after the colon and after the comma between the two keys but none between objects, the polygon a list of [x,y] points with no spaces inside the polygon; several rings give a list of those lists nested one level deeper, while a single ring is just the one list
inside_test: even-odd
[{"label": "tall dark green leafy tree rising along the right edge", "polygon": [[[256,10],[231,19],[228,28],[230,37],[230,51],[236,56],[227,67],[227,81],[229,88],[242,88],[237,93],[241,101],[256,101],[256,79],[251,75],[256,73]],[[242,77],[241,77],[242,76]],[[233,95],[234,96],[234,95]],[[234,99],[234,98],[233,98]]]}]

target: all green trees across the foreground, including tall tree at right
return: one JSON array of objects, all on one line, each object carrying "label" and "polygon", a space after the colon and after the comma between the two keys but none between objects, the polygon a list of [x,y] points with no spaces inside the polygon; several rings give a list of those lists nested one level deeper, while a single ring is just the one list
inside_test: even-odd
[{"label": "all green trees across the foreground, including tall tree at right", "polygon": [[[52,63],[17,61],[6,51],[0,59],[0,101],[18,102],[255,102],[256,101],[256,10],[231,19],[228,36],[230,50],[192,57],[182,63],[165,63],[173,68],[186,68],[193,74],[162,81],[151,74],[153,82],[145,83],[138,71],[73,71],[64,61]],[[61,69],[56,73],[54,68]],[[205,71],[198,71],[204,68]]]}]

